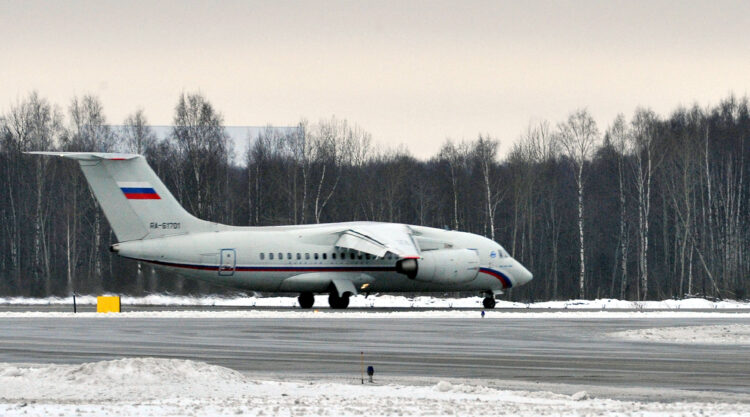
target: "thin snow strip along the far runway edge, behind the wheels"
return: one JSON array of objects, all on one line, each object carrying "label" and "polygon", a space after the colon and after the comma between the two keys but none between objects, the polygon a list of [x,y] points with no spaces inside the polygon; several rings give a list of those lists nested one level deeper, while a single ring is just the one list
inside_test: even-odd
[{"label": "thin snow strip along the far runway edge, behind the wheels", "polygon": [[[76,297],[78,304],[96,304],[96,296],[82,295]],[[73,304],[72,297],[25,298],[0,297],[0,304],[15,305],[50,305]],[[258,297],[253,295],[219,297],[185,297],[165,294],[153,294],[143,297],[122,296],[123,305],[159,305],[159,306],[219,306],[219,307],[296,307],[296,297]],[[315,296],[316,306],[327,306],[328,296]],[[482,306],[481,297],[437,298],[437,297],[404,297],[400,295],[358,295],[351,298],[350,307],[416,307],[416,308],[478,308]],[[497,301],[499,309],[564,309],[564,310],[717,310],[717,309],[747,309],[750,302],[746,301],[709,301],[702,298],[687,298],[683,300],[663,301],[623,301],[615,299],[598,300],[569,300],[544,301],[538,303],[516,303]]]}]

